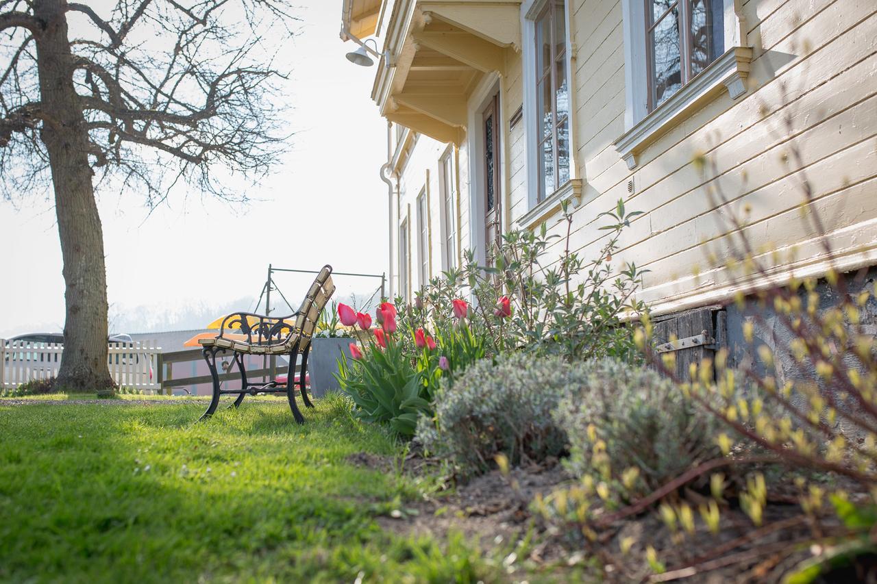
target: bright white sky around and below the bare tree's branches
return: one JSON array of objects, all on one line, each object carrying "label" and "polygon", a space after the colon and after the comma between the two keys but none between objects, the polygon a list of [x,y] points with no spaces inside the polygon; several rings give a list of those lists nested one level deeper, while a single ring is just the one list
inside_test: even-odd
[{"label": "bright white sky around and below the bare tree's branches", "polygon": [[[374,66],[345,59],[356,46],[339,39],[341,0],[309,0],[295,13],[302,22],[289,46],[287,87],[294,108],[289,131],[296,135],[276,173],[250,190],[259,201],[237,209],[181,189],[147,217],[138,193],[98,193],[108,295],[117,310],[148,305],[179,312],[259,296],[269,262],[298,269],[330,263],[339,272],[387,269],[387,187],[378,174],[387,126],[369,97]],[[271,224],[267,238],[254,232]],[[0,234],[0,338],[61,331],[64,281],[53,202],[31,196],[16,210],[0,201]],[[224,241],[229,245],[216,245]],[[309,278],[275,280],[296,304]],[[380,283],[336,282],[339,294]]]}]

